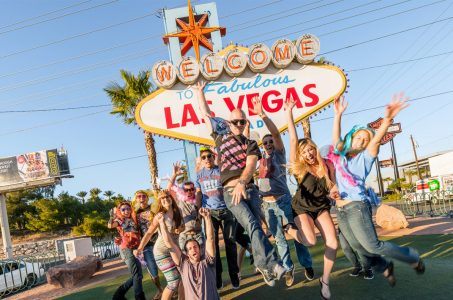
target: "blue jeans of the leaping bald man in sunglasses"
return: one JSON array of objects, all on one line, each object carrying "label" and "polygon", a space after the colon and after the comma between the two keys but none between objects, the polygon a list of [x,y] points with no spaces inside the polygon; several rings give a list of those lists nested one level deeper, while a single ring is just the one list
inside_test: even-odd
[{"label": "blue jeans of the leaping bald man in sunglasses", "polygon": [[224,189],[223,197],[227,208],[233,213],[239,224],[245,228],[252,241],[255,265],[272,272],[278,263],[278,257],[261,228],[261,199],[258,190],[254,185],[247,187],[247,198],[242,199],[239,204],[233,205],[233,197],[230,194],[233,189],[233,187],[225,187]]}]

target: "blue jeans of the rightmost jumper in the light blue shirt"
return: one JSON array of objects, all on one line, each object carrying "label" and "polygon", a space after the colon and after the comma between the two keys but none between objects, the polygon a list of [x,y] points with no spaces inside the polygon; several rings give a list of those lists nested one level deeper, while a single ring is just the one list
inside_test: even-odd
[{"label": "blue jeans of the rightmost jumper in the light blue shirt", "polygon": [[374,228],[371,205],[367,201],[354,201],[337,207],[338,226],[346,241],[361,255],[369,258],[376,272],[384,272],[388,262],[383,256],[413,264],[419,261],[418,252],[410,247],[402,247],[380,241]]}]

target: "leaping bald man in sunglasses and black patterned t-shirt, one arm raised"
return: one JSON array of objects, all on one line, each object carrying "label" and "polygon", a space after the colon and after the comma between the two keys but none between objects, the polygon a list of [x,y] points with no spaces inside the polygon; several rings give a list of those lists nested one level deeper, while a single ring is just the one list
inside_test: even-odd
[{"label": "leaping bald man in sunglasses and black patterned t-shirt, one arm raised", "polygon": [[[205,124],[220,155],[220,181],[224,187],[224,200],[236,220],[247,230],[252,241],[255,265],[269,286],[275,285],[285,268],[278,262],[274,247],[267,239],[260,225],[261,200],[253,184],[261,153],[258,144],[244,136],[247,119],[240,109],[234,109],[229,120],[212,117],[204,97],[205,83],[196,86],[200,110]],[[209,119],[209,120],[208,120]]]}]

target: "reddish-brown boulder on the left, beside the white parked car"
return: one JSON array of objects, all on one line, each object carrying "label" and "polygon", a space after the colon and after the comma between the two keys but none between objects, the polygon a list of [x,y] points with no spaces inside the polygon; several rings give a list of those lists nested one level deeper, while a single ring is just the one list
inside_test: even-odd
[{"label": "reddish-brown boulder on the left, beside the white parked car", "polygon": [[73,287],[80,281],[90,278],[102,268],[99,257],[88,255],[76,257],[73,261],[50,268],[47,282],[60,287]]}]

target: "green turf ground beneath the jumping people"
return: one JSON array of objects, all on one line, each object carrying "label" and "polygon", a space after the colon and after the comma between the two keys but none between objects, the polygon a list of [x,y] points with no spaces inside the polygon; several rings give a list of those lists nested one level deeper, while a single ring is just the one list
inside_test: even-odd
[{"label": "green turf ground beneath the jumping people", "polygon": [[[352,278],[349,271],[351,266],[339,250],[337,261],[330,283],[333,299],[452,299],[453,294],[453,235],[424,235],[404,236],[399,238],[383,238],[392,240],[399,245],[411,246],[419,250],[426,263],[424,275],[417,275],[406,264],[395,262],[396,287],[391,288],[382,275],[376,275],[373,280],[362,277]],[[318,277],[322,272],[324,247],[319,241],[311,248],[313,267]],[[224,253],[223,253],[224,254]],[[291,256],[296,263],[295,284],[287,288],[284,282],[278,282],[274,288],[268,287],[261,276],[252,275],[253,267],[245,259],[242,268],[241,289],[232,290],[227,272],[223,278],[225,288],[220,291],[222,299],[319,299],[319,282],[317,279],[307,282],[303,268],[297,263],[294,249]],[[223,258],[224,270],[226,260]],[[96,287],[68,295],[60,299],[111,299],[113,292],[128,276],[103,283]],[[144,289],[147,298],[155,293],[149,275],[144,276]],[[132,291],[128,298],[133,299]],[[189,300],[189,299],[188,299]]]}]

